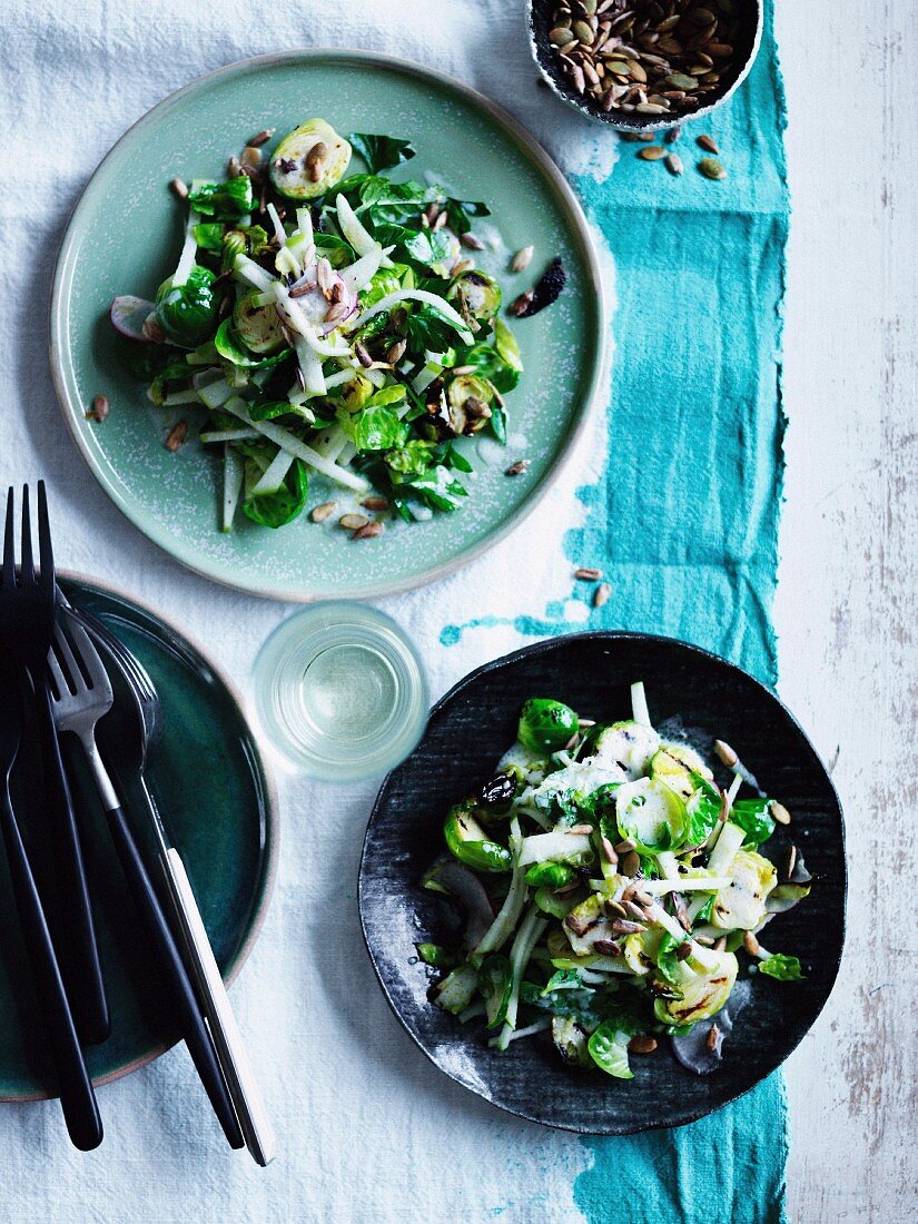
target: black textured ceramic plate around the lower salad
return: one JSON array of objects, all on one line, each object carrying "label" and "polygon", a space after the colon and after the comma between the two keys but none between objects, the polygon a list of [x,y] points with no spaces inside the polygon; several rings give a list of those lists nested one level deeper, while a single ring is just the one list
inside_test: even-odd
[{"label": "black textured ceramic plate around the lower salad", "polygon": [[[807,901],[767,928],[769,949],[798,955],[805,979],[754,979],[753,1001],[725,1043],[721,1069],[704,1078],[677,1064],[668,1042],[650,1056],[633,1058],[629,1081],[569,1070],[545,1033],[514,1042],[504,1054],[490,1050],[480,1024],[464,1028],[427,1001],[430,971],[415,955],[416,941],[446,936],[454,927],[444,900],[419,886],[443,852],[443,815],[491,776],[515,738],[523,701],[554,696],[584,717],[627,717],[635,679],[646,684],[656,725],[679,718],[703,738],[733,744],[764,789],[793,813],[789,832],[815,878]],[[776,835],[769,854],[776,857],[787,840]],[[629,1135],[703,1118],[785,1061],[832,989],[845,931],[845,885],[838,799],[813,745],[774,693],[716,655],[681,641],[588,633],[487,663],[435,706],[424,739],[386,778],[370,818],[360,913],[392,1010],[441,1071],[521,1118],[590,1135]]]}]

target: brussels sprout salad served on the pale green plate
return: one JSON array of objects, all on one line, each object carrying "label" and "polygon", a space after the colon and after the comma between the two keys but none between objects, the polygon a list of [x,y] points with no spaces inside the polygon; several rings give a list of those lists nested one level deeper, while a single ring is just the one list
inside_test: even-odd
[{"label": "brussels sprout salad served on the pale green plate", "polygon": [[[177,266],[155,301],[111,306],[133,341],[127,361],[154,405],[206,410],[225,531],[240,508],[290,523],[316,474],[355,508],[408,521],[454,510],[472,471],[455,442],[506,444],[504,397],[523,368],[501,285],[476,266],[485,242],[471,225],[490,211],[393,181],[387,171],[415,155],[408,141],[345,140],[313,119],[262,160],[271,138],[253,137],[225,181],[174,180],[187,206]],[[348,174],[353,152],[366,170]],[[186,432],[179,422],[166,447]],[[382,530],[360,514],[339,521],[360,537]]]}]

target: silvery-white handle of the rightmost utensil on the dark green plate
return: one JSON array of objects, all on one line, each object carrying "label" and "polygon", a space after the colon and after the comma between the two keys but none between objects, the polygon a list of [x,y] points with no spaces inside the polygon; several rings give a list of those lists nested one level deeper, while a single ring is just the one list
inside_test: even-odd
[{"label": "silvery-white handle of the rightmost utensil on the dark green plate", "polygon": [[160,863],[246,1147],[263,1168],[274,1159],[274,1129],[264,1108],[236,1017],[233,1015],[191,881],[181,856],[174,847],[160,854]]}]

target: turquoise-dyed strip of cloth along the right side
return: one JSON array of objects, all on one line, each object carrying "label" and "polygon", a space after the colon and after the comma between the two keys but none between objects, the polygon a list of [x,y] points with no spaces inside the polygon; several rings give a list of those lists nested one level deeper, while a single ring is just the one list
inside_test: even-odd
[{"label": "turquoise-dyed strip of cloth along the right side", "polygon": [[[605,182],[575,186],[617,266],[608,460],[579,490],[565,539],[575,565],[601,565],[612,596],[589,619],[563,602],[514,618],[523,633],[584,628],[672,634],[777,678],[771,605],[782,492],[781,327],[788,195],[785,98],[772,13],[733,100],[689,125],[684,176],[623,143]],[[696,169],[709,132],[728,169]],[[588,605],[592,590],[572,597]],[[488,618],[477,624],[494,624]],[[444,630],[444,644],[463,629]],[[586,1138],[574,1187],[590,1224],[772,1224],[785,1215],[787,1116],[781,1075],[676,1131]]]}]

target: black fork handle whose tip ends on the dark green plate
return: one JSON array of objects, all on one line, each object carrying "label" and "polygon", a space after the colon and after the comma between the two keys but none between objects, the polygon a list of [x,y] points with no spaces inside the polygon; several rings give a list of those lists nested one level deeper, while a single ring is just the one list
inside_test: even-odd
[{"label": "black fork handle whose tip ends on the dark green plate", "polygon": [[42,759],[47,775],[48,823],[54,845],[54,870],[58,881],[58,944],[61,967],[77,1033],[87,1045],[98,1045],[109,1037],[111,1020],[99,963],[99,945],[86,880],[83,849],[45,679],[38,681],[34,689]]}]

